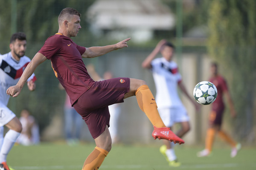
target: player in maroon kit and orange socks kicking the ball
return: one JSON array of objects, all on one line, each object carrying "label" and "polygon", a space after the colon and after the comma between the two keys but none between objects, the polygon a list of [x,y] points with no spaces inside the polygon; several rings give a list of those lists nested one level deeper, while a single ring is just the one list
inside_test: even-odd
[{"label": "player in maroon kit and orange socks kicking the ball", "polygon": [[98,57],[113,50],[128,47],[127,42],[130,38],[102,47],[85,48],[76,45],[70,37],[76,37],[81,28],[80,16],[81,14],[73,8],[64,8],[61,11],[58,17],[58,33],[45,41],[44,46],[26,67],[17,85],[8,88],[6,93],[17,97],[35,68],[45,60],[51,60],[55,76],[70,96],[71,105],[86,122],[96,143],[95,149],[84,161],[82,170],[99,169],[111,150],[108,105],[123,102],[123,99],[130,96],[136,96],[140,109],[154,126],[152,133],[154,139],[184,143],[163,124],[154,96],[145,81],[126,77],[93,81],[87,73],[82,57]]}]

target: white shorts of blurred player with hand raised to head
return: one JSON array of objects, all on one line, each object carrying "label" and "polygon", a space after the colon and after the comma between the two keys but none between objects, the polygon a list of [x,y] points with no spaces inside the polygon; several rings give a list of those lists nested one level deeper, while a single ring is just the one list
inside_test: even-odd
[{"label": "white shorts of blurred player with hand raised to head", "polygon": [[175,108],[158,108],[158,112],[163,120],[164,125],[172,127],[175,123],[188,122],[189,116],[186,108],[183,106]]}]

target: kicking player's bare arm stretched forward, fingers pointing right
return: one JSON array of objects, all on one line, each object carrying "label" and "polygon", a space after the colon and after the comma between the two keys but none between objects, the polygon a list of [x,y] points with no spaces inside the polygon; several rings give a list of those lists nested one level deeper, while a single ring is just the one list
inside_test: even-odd
[{"label": "kicking player's bare arm stretched forward, fingers pointing right", "polygon": [[122,40],[116,44],[113,45],[106,45],[106,46],[102,46],[102,47],[90,47],[90,48],[86,48],[84,54],[82,54],[83,58],[94,58],[94,57],[99,57],[102,56],[104,54],[107,54],[111,51],[114,50],[118,50],[124,47],[128,47],[127,42],[130,40],[131,38],[127,38],[125,40]]}]

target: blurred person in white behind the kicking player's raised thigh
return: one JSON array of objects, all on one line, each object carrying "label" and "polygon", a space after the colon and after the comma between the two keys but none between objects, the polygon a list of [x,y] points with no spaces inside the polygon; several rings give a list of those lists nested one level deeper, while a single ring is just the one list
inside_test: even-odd
[{"label": "blurred person in white behind the kicking player's raised thigh", "polygon": [[[90,76],[95,80],[95,81],[101,81],[104,79],[112,79],[113,74],[111,71],[106,71],[103,74],[103,78],[99,76],[99,74],[95,71],[94,65],[90,64],[86,66],[88,73]],[[119,136],[118,136],[118,120],[119,116],[121,113],[121,105],[120,103],[116,103],[113,105],[108,106],[108,110],[110,113],[110,121],[109,125],[110,127],[108,128],[109,133],[112,138],[112,143],[118,143],[119,142]]]}]

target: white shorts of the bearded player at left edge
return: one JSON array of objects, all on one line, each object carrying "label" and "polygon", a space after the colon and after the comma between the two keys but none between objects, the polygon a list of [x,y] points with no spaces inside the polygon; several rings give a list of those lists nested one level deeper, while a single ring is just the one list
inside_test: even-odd
[{"label": "white shorts of the bearded player at left edge", "polygon": [[7,108],[6,105],[0,102],[0,126],[4,126],[9,123],[13,118],[15,118],[15,114]]}]

